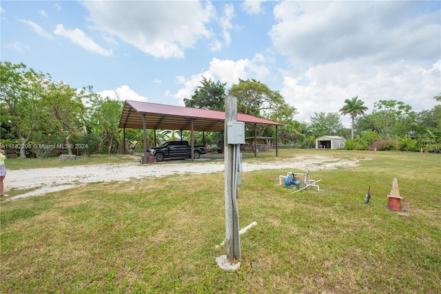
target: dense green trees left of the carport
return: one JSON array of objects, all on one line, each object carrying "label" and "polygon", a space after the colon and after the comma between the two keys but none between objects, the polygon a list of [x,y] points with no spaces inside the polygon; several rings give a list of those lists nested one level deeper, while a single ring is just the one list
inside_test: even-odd
[{"label": "dense green trees left of the carport", "polygon": [[[25,64],[0,62],[1,145],[21,158],[48,156],[61,147],[72,154],[117,151],[122,144],[121,101],[75,89]],[[55,150],[57,149],[57,150]]]}]

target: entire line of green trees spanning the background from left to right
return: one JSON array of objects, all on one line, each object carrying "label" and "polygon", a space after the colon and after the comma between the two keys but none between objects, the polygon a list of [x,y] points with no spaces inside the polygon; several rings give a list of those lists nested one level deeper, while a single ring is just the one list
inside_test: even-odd
[{"label": "entire line of green trees spanning the background from left to right", "polygon": [[[72,154],[122,153],[130,147],[142,149],[143,131],[127,129],[123,140],[119,129],[122,101],[94,93],[92,86],[76,89],[50,74],[37,72],[25,64],[0,61],[0,143],[14,149],[21,158]],[[226,83],[201,77],[194,94],[184,99],[185,107],[224,111],[225,97],[238,98],[238,113],[281,123],[278,143],[287,147],[309,148],[316,138],[336,135],[347,138],[347,149],[402,149],[419,151],[441,149],[441,105],[413,112],[402,101],[380,100],[368,113],[358,96],[345,99],[339,112],[315,112],[308,122],[295,120],[297,109],[285,102],[279,91],[271,90],[255,79],[239,79],[227,89]],[[435,100],[441,102],[441,94]],[[351,129],[343,127],[341,117],[351,117]],[[257,125],[258,136],[276,137],[274,127]],[[247,136],[254,136],[254,125],[246,126]],[[189,132],[147,130],[147,145],[163,140],[189,138]],[[202,135],[196,141],[218,143],[221,134]],[[156,138],[155,138],[156,137]],[[438,146],[439,145],[439,146]],[[54,150],[57,149],[57,150]]]}]

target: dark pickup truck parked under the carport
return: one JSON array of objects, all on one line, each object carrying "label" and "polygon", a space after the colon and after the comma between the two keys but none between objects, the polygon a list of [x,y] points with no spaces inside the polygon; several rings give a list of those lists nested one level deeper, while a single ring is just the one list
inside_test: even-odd
[{"label": "dark pickup truck parked under the carport", "polygon": [[[170,141],[159,147],[151,147],[149,152],[152,152],[158,162],[165,158],[192,158],[192,147],[187,141]],[[207,153],[207,147],[194,146],[194,159],[199,159],[201,154]]]}]

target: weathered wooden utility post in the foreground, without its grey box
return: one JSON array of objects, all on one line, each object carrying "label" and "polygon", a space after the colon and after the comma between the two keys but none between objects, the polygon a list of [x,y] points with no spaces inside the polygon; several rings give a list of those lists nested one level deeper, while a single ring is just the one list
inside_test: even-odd
[{"label": "weathered wooden utility post in the foreground, without its grey box", "polygon": [[[237,98],[227,96],[225,98],[225,138],[228,138],[227,123],[237,121]],[[228,144],[228,140],[224,140],[224,156],[225,156],[225,231],[227,245],[227,260],[240,259],[240,238],[239,238],[239,215],[234,210],[233,198],[233,151],[234,145]]]}]

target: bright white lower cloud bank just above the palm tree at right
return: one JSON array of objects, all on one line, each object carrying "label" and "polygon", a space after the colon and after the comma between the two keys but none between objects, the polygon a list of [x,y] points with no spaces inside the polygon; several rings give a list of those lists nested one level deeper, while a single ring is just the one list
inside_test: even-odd
[{"label": "bright white lower cloud bank just above the palm tree at right", "polygon": [[[441,90],[441,61],[429,69],[398,61],[354,72],[364,64],[369,60],[317,65],[298,76],[286,75],[280,93],[298,109],[296,119],[300,121],[309,120],[314,112],[338,112],[345,99],[354,96],[369,107],[367,113],[379,100],[403,101],[416,112],[435,105],[433,96]],[[349,117],[342,120],[349,127]]]}]

